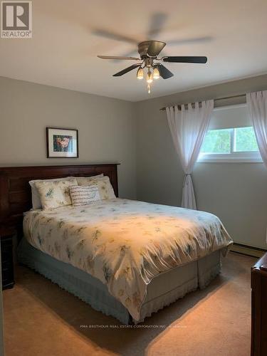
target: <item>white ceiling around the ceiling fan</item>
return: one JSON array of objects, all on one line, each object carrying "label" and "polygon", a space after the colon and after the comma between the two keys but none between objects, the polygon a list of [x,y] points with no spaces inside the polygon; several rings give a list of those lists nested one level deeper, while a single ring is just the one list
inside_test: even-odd
[{"label": "white ceiling around the ceiling fan", "polygon": [[[0,39],[0,75],[137,101],[267,73],[266,14],[266,0],[33,0],[33,38]],[[156,23],[147,38],[157,16],[163,28],[157,33]],[[164,55],[207,56],[208,63],[166,63],[174,77],[160,78],[148,94],[135,70],[112,77],[135,62],[96,57],[125,56],[137,46],[100,31],[164,41]]]}]

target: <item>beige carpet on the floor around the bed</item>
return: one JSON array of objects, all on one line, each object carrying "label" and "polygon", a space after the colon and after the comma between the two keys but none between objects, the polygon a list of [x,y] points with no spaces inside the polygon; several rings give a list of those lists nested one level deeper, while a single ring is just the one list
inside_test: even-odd
[{"label": "beige carpet on the floor around the bed", "polygon": [[139,329],[120,328],[114,318],[19,267],[16,286],[4,291],[6,356],[250,355],[255,261],[229,253],[223,273],[208,288],[153,314]]}]

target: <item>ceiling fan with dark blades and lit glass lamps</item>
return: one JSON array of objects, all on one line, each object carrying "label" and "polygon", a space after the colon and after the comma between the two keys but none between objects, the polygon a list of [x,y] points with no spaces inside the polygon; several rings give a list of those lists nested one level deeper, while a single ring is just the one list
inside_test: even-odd
[{"label": "ceiling fan with dark blades and lit glass lamps", "polygon": [[132,66],[127,67],[120,72],[113,74],[113,77],[120,77],[130,70],[137,70],[137,79],[142,80],[144,78],[144,69],[147,69],[147,90],[150,93],[150,84],[153,80],[157,80],[160,77],[163,79],[168,79],[173,76],[173,73],[169,71],[162,62],[169,63],[206,63],[207,58],[204,56],[163,56],[159,58],[159,53],[166,46],[165,42],[162,41],[143,41],[138,44],[138,53],[140,58],[137,57],[120,57],[120,56],[98,56],[102,59],[121,59],[138,61],[139,63],[132,64]]}]

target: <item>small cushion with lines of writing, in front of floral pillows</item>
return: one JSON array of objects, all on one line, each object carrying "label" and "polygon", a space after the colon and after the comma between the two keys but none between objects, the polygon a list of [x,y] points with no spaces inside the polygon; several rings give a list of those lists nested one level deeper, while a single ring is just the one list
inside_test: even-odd
[{"label": "small cushion with lines of writing, in front of floral pillows", "polygon": [[92,184],[89,186],[73,185],[70,187],[70,197],[73,206],[82,206],[93,203],[93,201],[101,200],[98,185]]}]

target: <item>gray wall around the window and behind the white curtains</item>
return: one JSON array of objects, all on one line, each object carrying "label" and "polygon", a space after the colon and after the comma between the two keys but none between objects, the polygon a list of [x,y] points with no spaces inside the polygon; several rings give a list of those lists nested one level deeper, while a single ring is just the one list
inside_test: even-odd
[{"label": "gray wall around the window and behind the white curtains", "polygon": [[[262,75],[137,103],[137,199],[177,206],[182,199],[184,174],[162,106],[265,89],[267,75]],[[193,181],[199,209],[218,215],[234,241],[267,248],[267,169],[262,163],[197,163]]]}]

